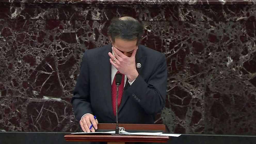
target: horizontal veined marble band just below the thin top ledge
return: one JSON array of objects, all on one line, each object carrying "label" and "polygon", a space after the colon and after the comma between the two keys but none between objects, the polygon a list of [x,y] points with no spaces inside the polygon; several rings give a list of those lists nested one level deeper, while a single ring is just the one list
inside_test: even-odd
[{"label": "horizontal veined marble band just below the thin top ledge", "polygon": [[0,8],[0,19],[108,21],[128,15],[140,21],[256,21],[256,5],[114,5],[0,2]]}]

